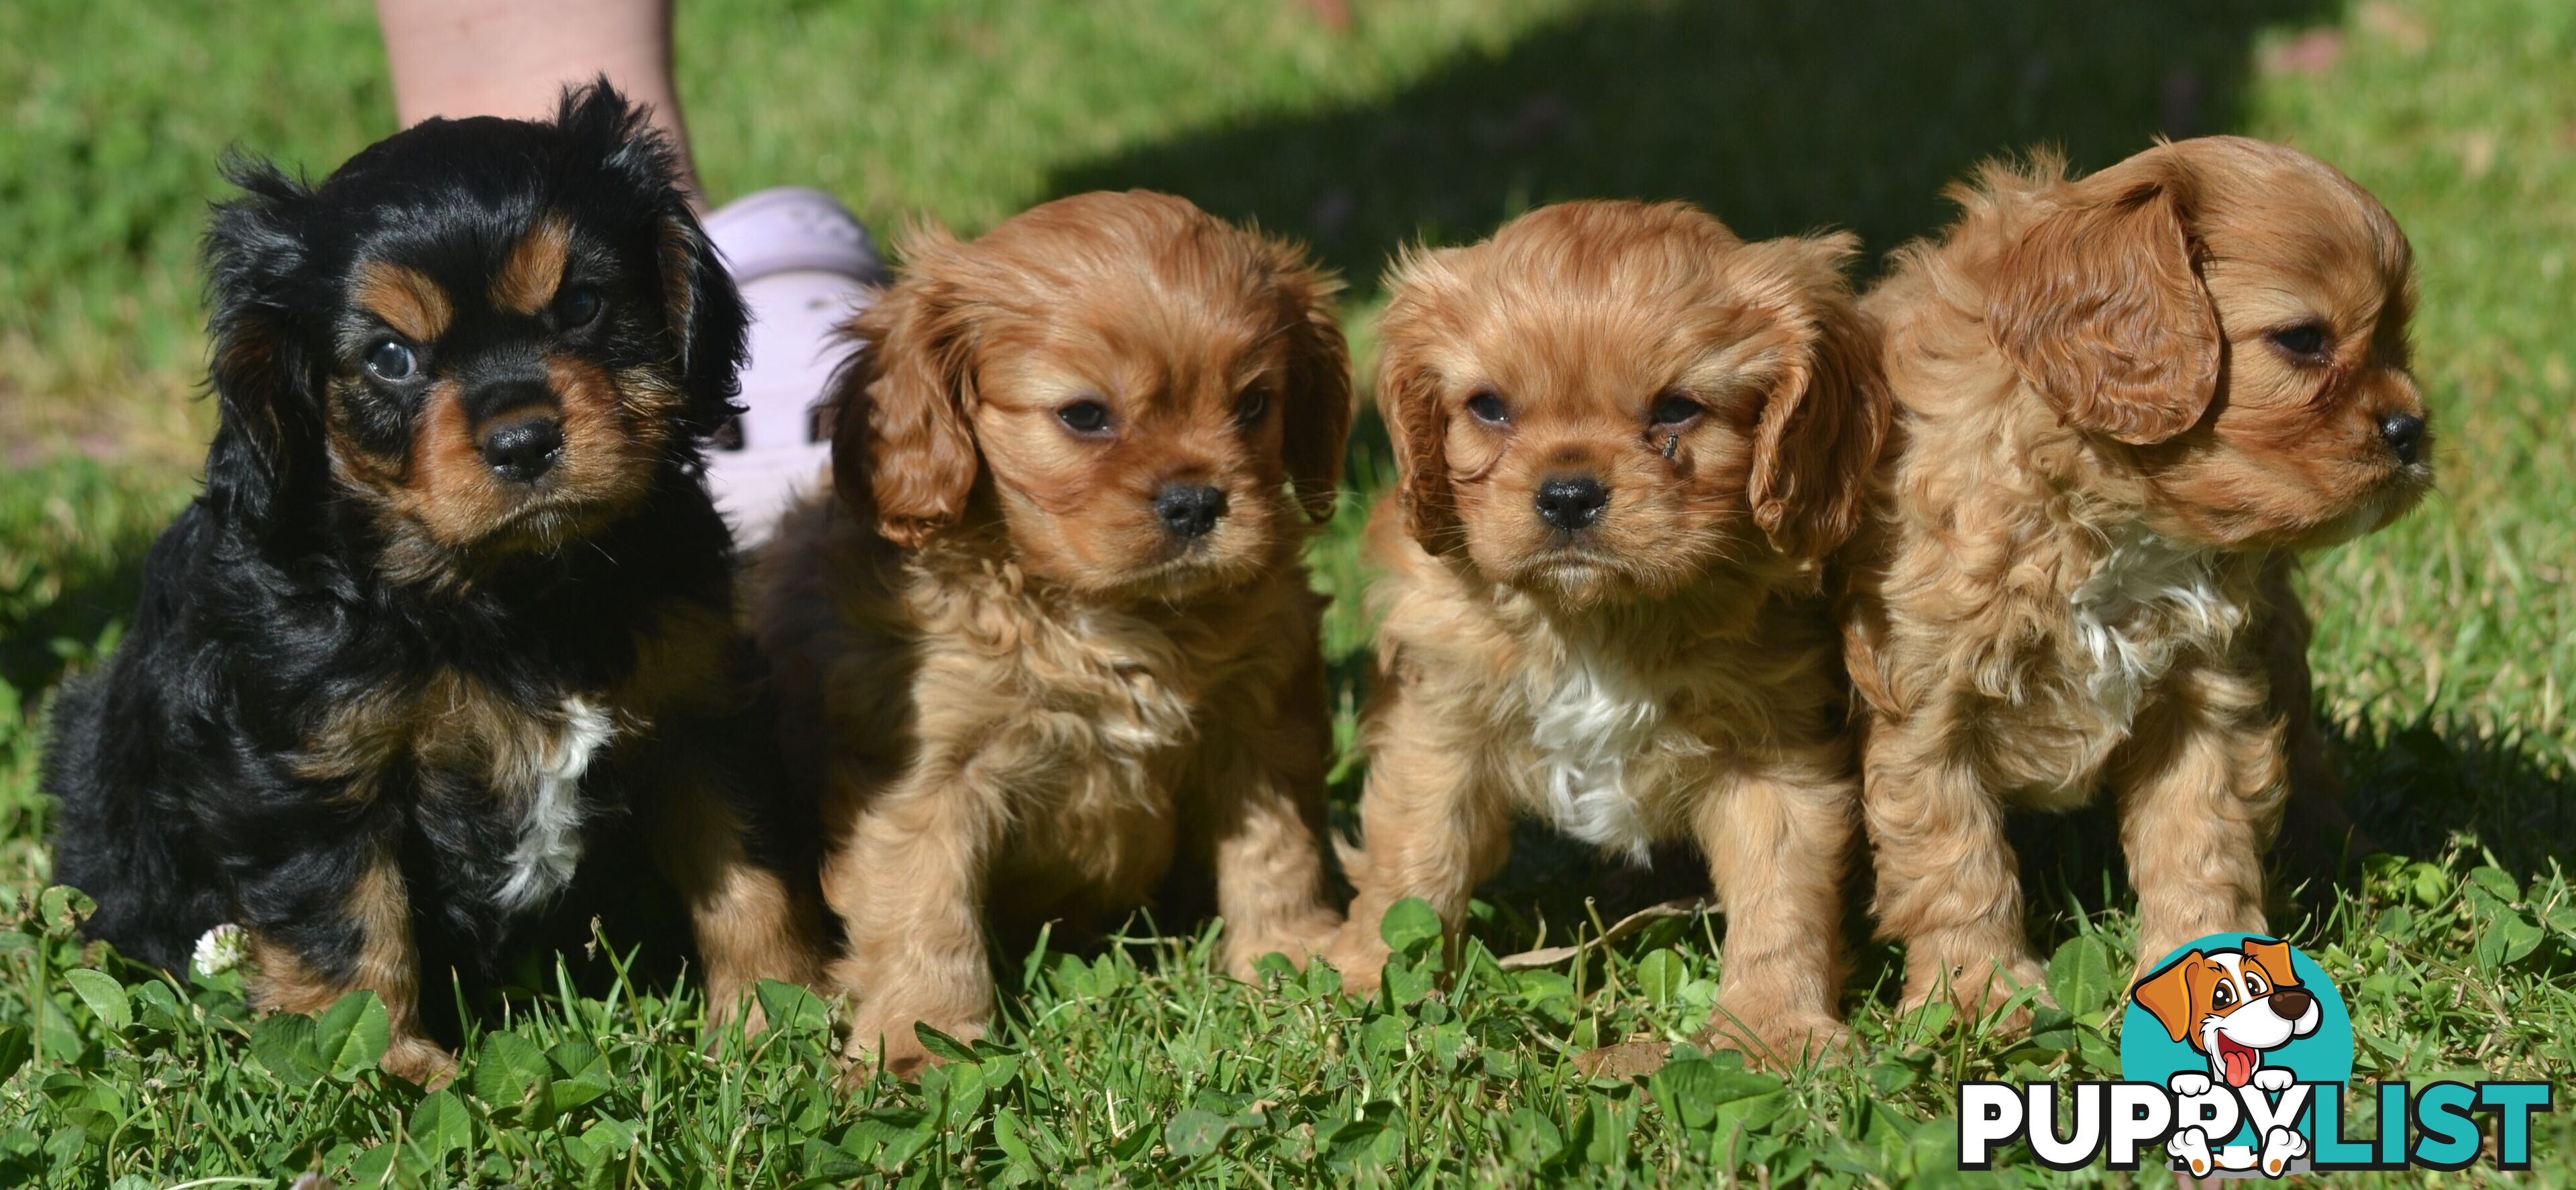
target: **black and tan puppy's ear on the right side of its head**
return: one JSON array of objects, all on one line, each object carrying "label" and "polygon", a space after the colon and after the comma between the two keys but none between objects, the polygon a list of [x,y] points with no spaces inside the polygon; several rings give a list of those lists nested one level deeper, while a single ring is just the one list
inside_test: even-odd
[{"label": "black and tan puppy's ear on the right side of its head", "polygon": [[724,260],[716,258],[716,245],[706,240],[706,227],[688,209],[680,155],[652,126],[652,108],[618,95],[608,75],[564,88],[554,124],[582,152],[598,155],[598,162],[634,191],[636,206],[652,211],[662,325],[680,366],[680,384],[688,386],[683,420],[690,433],[714,433],[737,412],[734,394],[742,392],[737,373],[747,350],[750,314]]}]

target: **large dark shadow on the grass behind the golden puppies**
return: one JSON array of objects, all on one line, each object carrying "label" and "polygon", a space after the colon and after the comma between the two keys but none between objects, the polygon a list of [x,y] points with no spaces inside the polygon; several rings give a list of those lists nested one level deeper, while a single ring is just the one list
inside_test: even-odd
[{"label": "large dark shadow on the grass behind the golden puppies", "polygon": [[[1690,198],[1747,237],[1850,227],[1870,255],[1947,219],[1973,162],[2102,167],[2241,124],[2251,39],[2336,0],[1607,3],[1376,103],[1275,113],[1059,170],[1309,240],[1363,294],[1404,242],[1561,198]],[[1358,13],[1365,21],[1365,10]]]}]

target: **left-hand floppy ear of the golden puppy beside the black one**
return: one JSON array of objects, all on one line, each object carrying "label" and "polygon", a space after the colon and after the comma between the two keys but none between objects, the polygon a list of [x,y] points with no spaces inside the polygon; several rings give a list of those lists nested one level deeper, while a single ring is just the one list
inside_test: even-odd
[{"label": "left-hand floppy ear of the golden puppy beside the black one", "polygon": [[832,376],[832,484],[904,549],[966,513],[979,471],[969,314],[945,276],[956,247],[935,229],[912,237],[904,281],[850,319],[860,345]]}]

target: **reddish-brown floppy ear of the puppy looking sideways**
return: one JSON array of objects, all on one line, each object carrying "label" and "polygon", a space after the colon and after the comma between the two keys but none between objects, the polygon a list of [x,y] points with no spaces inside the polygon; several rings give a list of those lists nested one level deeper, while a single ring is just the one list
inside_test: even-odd
[{"label": "reddish-brown floppy ear of the puppy looking sideways", "polygon": [[2148,446],[2218,394],[2218,309],[2192,260],[2195,185],[2166,147],[2066,188],[2004,250],[1986,299],[1994,345],[2058,417]]}]

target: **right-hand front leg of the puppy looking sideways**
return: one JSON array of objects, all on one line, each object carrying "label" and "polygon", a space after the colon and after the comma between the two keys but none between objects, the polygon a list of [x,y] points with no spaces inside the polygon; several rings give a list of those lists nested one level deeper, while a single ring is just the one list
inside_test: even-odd
[{"label": "right-hand front leg of the puppy looking sideways", "polygon": [[2112,760],[2120,845],[2138,886],[2138,971],[2192,938],[2264,930],[2262,853],[2287,796],[2282,729],[2259,683],[2172,683]]}]

